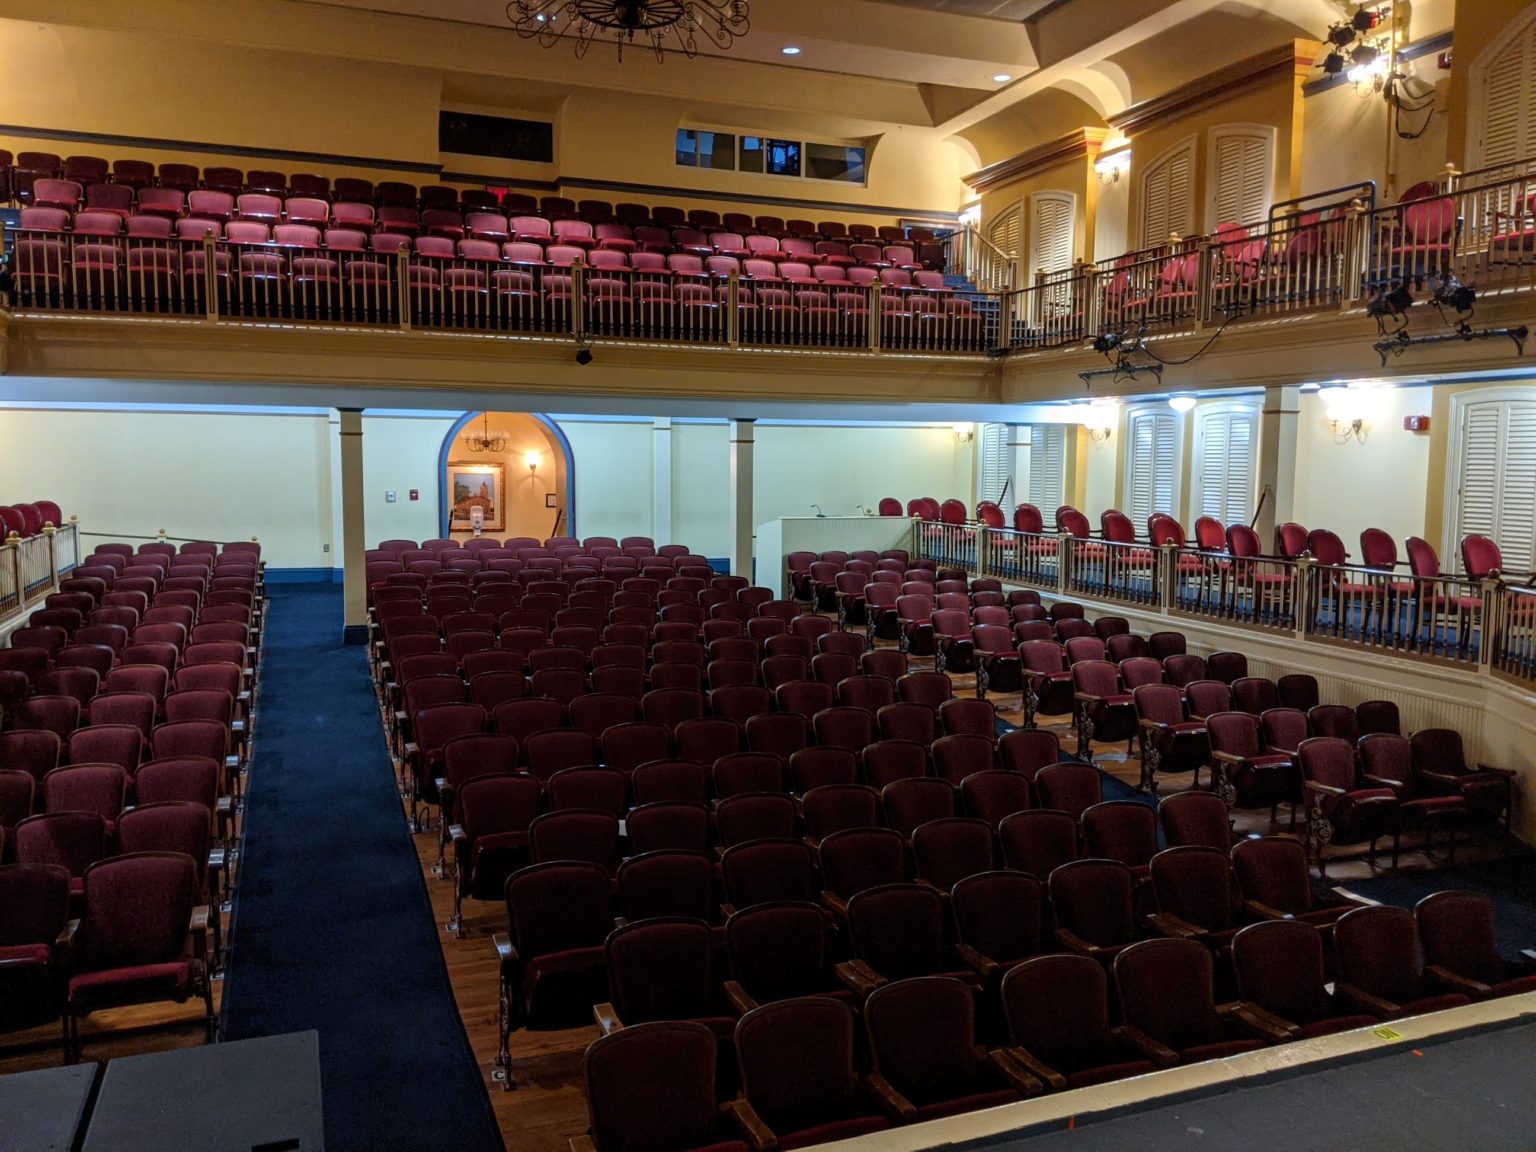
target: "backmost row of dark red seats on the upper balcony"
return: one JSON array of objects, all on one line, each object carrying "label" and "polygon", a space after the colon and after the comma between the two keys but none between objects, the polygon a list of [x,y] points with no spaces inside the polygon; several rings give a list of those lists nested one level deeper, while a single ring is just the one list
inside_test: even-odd
[{"label": "backmost row of dark red seats on the upper balcony", "polygon": [[[346,203],[376,207],[381,220],[401,226],[450,224],[453,217],[470,212],[502,212],[511,217],[542,217],[545,221],[579,220],[587,224],[624,224],[627,227],[727,230],[740,235],[799,237],[805,240],[868,240],[883,243],[934,240],[932,229],[895,224],[846,224],[837,220],[813,223],[783,220],[773,215],[716,212],[713,209],[682,209],[668,204],[648,207],[637,203],[613,204],[607,200],[570,200],[545,195],[535,198],[521,192],[490,192],[485,189],[455,189],[444,184],[416,187],[402,181],[381,181],[272,170],[240,172],[232,167],[207,167],[201,172],[190,164],[160,164],[158,172],[147,161],[118,160],[108,169],[98,157],[60,158],[49,152],[23,152],[12,160],[0,151],[0,190],[22,204],[58,206],[75,210],[100,207],[124,215],[137,210],[166,214],[184,209],[198,192],[215,192],[230,200],[267,197],[272,200],[304,200]],[[172,195],[174,194],[174,195]],[[146,207],[147,206],[147,207]],[[175,215],[181,212],[177,210]],[[387,214],[387,215],[386,215]],[[429,218],[427,214],[433,214]],[[404,230],[395,229],[395,230]]]}]

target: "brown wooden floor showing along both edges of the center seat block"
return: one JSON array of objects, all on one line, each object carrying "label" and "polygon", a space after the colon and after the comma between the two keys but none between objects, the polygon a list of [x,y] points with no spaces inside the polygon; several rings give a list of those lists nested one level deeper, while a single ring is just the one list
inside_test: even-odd
[{"label": "brown wooden floor showing along both edges of the center seat block", "polygon": [[[914,660],[914,668],[926,667],[926,660]],[[954,676],[955,691],[974,694],[975,679],[969,674]],[[998,714],[1015,725],[1023,725],[1023,705],[1017,694],[989,697],[998,707]],[[1077,737],[1066,722],[1041,727],[1054,728],[1068,751],[1075,751]],[[1141,776],[1140,760],[1126,757],[1126,745],[1094,745],[1094,756],[1106,773],[1135,786]],[[1161,791],[1169,794],[1190,786],[1190,777],[1163,777]],[[402,819],[406,808],[402,808]],[[1272,829],[1267,814],[1236,813],[1238,831],[1263,834],[1286,831],[1287,817]],[[573,1028],[561,1032],[516,1031],[511,1034],[511,1075],[518,1087],[504,1091],[493,1078],[496,1068],[496,954],[490,937],[507,931],[507,914],[501,903],[465,902],[464,932],[455,938],[445,925],[453,915],[453,894],[449,880],[433,874],[438,860],[436,829],[416,834],[416,851],[432,897],[432,909],[438,923],[438,940],[447,962],[453,997],[464,1020],[475,1060],[490,1092],[492,1106],[501,1124],[501,1134],[508,1149],[515,1152],[567,1152],[570,1138],[587,1130],[587,1100],[582,1087],[582,1052],[598,1038],[598,1026]],[[1404,863],[1412,866],[1405,854]],[[1350,876],[1367,876],[1364,862],[1342,860],[1330,865],[1339,880]]]}]

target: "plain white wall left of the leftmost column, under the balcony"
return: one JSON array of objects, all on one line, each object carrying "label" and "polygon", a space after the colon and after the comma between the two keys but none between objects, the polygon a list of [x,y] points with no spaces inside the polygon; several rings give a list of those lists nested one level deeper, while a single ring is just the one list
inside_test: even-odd
[{"label": "plain white wall left of the leftmost column, under the balcony", "polygon": [[0,444],[6,499],[52,499],[81,531],[255,536],[272,568],[330,567],[326,415],[3,409]]}]

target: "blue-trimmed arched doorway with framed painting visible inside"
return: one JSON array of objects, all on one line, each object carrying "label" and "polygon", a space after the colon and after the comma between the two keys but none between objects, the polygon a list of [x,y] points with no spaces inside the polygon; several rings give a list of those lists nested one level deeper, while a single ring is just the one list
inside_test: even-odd
[{"label": "blue-trimmed arched doorway with framed painting visible inside", "polygon": [[574,536],[574,468],[559,425],[528,412],[467,412],[455,421],[438,456],[441,535],[473,536],[476,505],[485,536]]}]

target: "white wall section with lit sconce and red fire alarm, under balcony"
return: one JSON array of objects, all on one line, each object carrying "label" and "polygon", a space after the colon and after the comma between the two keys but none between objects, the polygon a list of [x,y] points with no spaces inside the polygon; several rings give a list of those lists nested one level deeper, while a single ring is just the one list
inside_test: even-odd
[{"label": "white wall section with lit sconce and red fire alarm, under balcony", "polygon": [[1295,519],[1309,528],[1330,528],[1358,558],[1362,528],[1382,528],[1398,541],[1424,535],[1430,436],[1404,432],[1404,416],[1427,416],[1432,389],[1373,389],[1369,435],[1333,442],[1321,393],[1301,396],[1296,427]]}]

